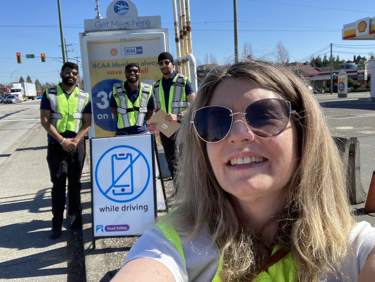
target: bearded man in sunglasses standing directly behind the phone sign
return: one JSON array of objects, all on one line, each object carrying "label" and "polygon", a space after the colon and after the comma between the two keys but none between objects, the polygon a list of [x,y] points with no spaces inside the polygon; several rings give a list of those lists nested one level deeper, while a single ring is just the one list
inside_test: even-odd
[{"label": "bearded man in sunglasses standing directly behind the phone sign", "polygon": [[113,86],[110,107],[117,118],[115,136],[148,133],[146,120],[155,110],[155,101],[152,86],[139,83],[139,76],[139,66],[129,63],[125,67],[126,81]]}]

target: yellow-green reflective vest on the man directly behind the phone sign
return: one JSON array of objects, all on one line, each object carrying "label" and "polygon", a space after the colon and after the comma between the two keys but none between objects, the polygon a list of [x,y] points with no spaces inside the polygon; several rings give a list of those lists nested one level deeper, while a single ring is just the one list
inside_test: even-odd
[{"label": "yellow-green reflective vest on the man directly behind the phone sign", "polygon": [[117,127],[142,126],[147,113],[148,100],[151,97],[151,85],[140,83],[139,95],[134,104],[126,95],[124,83],[115,83],[113,96],[117,103]]}]

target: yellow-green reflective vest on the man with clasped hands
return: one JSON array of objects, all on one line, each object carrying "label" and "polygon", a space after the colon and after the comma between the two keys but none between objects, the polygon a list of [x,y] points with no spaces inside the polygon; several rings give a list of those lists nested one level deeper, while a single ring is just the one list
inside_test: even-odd
[{"label": "yellow-green reflective vest on the man with clasped hands", "polygon": [[89,93],[75,87],[68,99],[62,88],[57,85],[46,89],[46,96],[51,105],[51,124],[58,133],[66,130],[78,133],[82,127],[83,110],[89,102]]}]

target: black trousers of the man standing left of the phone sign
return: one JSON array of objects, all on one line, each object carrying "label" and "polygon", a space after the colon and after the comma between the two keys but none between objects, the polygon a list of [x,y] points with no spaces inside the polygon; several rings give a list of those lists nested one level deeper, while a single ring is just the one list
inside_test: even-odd
[{"label": "black trousers of the man standing left of the phone sign", "polygon": [[60,144],[48,143],[47,163],[52,182],[52,225],[63,223],[68,179],[68,214],[81,214],[81,174],[86,157],[86,144],[82,139],[72,152],[63,150]]}]

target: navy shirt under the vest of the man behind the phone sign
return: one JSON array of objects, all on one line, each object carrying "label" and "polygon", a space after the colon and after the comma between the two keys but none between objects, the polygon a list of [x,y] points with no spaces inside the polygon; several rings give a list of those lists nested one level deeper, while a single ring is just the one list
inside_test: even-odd
[{"label": "navy shirt under the vest of the man behind the phone sign", "polygon": [[[132,102],[132,104],[135,103],[136,99],[138,99],[139,96],[139,87],[140,84],[138,84],[138,87],[134,89],[134,91],[129,87],[127,84],[127,81],[124,83],[124,88],[126,90],[126,96]],[[111,95],[111,100],[110,100],[110,107],[111,108],[117,108],[117,102],[114,98],[113,95]],[[155,105],[155,100],[154,100],[154,95],[151,95],[150,99],[148,100],[147,103],[147,111],[153,111],[155,110],[156,105]],[[116,123],[116,135],[135,135],[135,134],[142,134],[148,132],[147,129],[147,124],[146,124],[146,117],[143,120],[143,125],[142,126],[129,126],[129,127],[124,127],[124,128],[118,128],[117,123]]]}]

